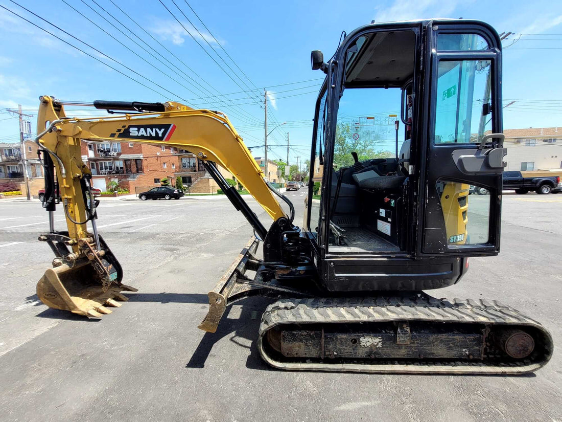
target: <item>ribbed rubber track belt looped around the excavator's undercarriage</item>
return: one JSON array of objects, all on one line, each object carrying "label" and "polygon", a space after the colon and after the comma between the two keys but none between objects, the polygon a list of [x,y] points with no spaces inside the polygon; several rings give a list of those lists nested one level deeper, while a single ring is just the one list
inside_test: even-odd
[{"label": "ribbed rubber track belt looped around the excavator's undercarriage", "polygon": [[[432,321],[490,325],[532,326],[544,336],[545,354],[538,362],[312,362],[277,361],[264,348],[268,330],[280,324],[322,324],[337,322]],[[496,300],[448,300],[432,297],[416,299],[377,298],[304,298],[279,300],[268,306],[261,318],[257,348],[269,365],[285,370],[434,373],[434,374],[525,374],[546,365],[552,355],[550,333],[537,321]]]}]

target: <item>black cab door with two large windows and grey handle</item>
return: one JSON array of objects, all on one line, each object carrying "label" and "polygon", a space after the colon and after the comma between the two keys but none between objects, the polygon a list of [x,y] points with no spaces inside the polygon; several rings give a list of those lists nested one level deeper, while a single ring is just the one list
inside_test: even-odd
[{"label": "black cab door with two large windows and grey handle", "polygon": [[[427,39],[416,255],[495,255],[506,155],[500,40],[482,24],[436,21]],[[488,194],[469,196],[470,185]]]}]

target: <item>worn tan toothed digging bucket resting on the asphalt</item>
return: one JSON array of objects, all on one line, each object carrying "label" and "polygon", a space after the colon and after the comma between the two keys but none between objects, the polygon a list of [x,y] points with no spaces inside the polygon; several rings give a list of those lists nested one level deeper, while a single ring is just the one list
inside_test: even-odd
[{"label": "worn tan toothed digging bucket resting on the asphalt", "polygon": [[119,307],[116,300],[129,300],[120,293],[122,290],[138,290],[117,282],[104,291],[95,277],[96,271],[87,259],[79,259],[72,267],[62,264],[49,268],[37,283],[37,295],[48,307],[101,318],[111,313],[106,306]]}]

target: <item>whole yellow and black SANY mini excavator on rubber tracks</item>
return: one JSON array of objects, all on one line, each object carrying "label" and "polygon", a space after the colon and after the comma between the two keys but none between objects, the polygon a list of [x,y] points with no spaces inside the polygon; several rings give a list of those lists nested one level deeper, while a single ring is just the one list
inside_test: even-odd
[{"label": "whole yellow and black SANY mini excavator on rubber tracks", "polygon": [[[40,97],[49,232],[39,240],[55,253],[37,285],[40,300],[101,317],[126,300],[122,291],[136,290],[123,284],[98,233],[81,140],[169,145],[202,161],[254,231],[209,292],[200,329],[214,333],[230,304],[261,295],[277,301],[262,315],[256,344],[279,369],[523,374],[545,365],[553,345],[538,322],[496,300],[426,293],[459,282],[470,257],[500,249],[506,149],[495,30],[464,19],[371,23],[342,34],[327,62],[313,51],[311,66],[325,79],[301,227],[219,111]],[[67,116],[64,107],[75,105],[111,114]],[[269,214],[269,229],[217,165]],[[65,231],[54,224],[57,185]],[[469,198],[471,185],[488,195]]]}]

